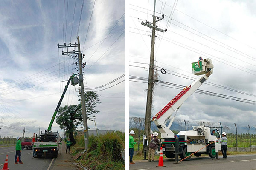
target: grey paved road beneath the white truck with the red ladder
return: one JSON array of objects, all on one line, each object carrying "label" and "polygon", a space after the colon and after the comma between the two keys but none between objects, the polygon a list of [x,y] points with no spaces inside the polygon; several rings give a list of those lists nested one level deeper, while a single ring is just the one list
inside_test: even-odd
[{"label": "grey paved road beneath the white truck with the red ladder", "polygon": [[182,161],[181,164],[174,164],[175,159],[165,159],[163,164],[166,167],[156,167],[158,161],[134,162],[135,164],[130,165],[130,170],[256,170],[256,154],[233,155],[228,156],[227,160],[218,161],[214,161],[208,157],[191,158],[188,161]]}]

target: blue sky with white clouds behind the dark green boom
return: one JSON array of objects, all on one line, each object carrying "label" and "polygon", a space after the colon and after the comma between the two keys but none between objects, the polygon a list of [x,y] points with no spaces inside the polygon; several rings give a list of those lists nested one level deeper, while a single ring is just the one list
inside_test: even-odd
[{"label": "blue sky with white clouds behind the dark green boom", "polygon": [[[77,35],[85,55],[85,90],[95,88],[100,95],[97,128],[125,130],[124,4],[124,0],[0,0],[1,136],[22,136],[24,127],[25,136],[39,133],[39,128],[47,130],[68,78],[78,73],[76,60],[62,55],[67,49],[57,44],[74,44]],[[78,87],[69,85],[61,106],[79,103]],[[88,121],[88,127],[95,130],[94,122]],[[57,130],[62,135],[54,122],[52,131]]]}]

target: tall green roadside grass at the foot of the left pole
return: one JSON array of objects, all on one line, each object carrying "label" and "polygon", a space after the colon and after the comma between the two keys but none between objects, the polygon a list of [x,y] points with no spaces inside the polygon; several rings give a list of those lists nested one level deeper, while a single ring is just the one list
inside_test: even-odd
[{"label": "tall green roadside grass at the foot of the left pole", "polygon": [[[88,150],[79,162],[90,169],[124,170],[121,150],[125,146],[125,134],[119,131],[107,132],[104,135],[89,136]],[[76,144],[71,147],[73,155],[79,153],[77,147],[84,147],[84,136],[76,136]]]}]

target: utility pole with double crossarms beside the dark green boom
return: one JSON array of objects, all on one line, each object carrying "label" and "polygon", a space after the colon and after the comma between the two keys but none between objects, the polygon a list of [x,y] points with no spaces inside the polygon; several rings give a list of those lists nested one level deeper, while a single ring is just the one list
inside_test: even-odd
[{"label": "utility pole with double crossarms beside the dark green boom", "polygon": [[[68,48],[70,48],[70,47],[75,47],[75,48],[78,47],[78,51],[75,51],[75,49],[73,51],[68,51]],[[58,44],[58,48],[67,48],[67,52],[62,51],[62,55],[67,55],[73,59],[78,60],[78,66],[79,66],[79,76],[78,77],[79,77],[79,86],[81,86],[81,105],[82,105],[82,114],[83,114],[83,123],[84,123],[84,145],[85,145],[85,150],[87,150],[88,143],[89,143],[89,141],[88,141],[89,133],[88,133],[85,100],[84,100],[84,77],[83,77],[83,70],[82,70],[82,68],[84,68],[85,63],[82,63],[79,36],[77,37],[77,43],[75,43],[75,44],[64,43],[64,45]],[[72,55],[76,55],[76,54],[78,54],[78,59],[76,58],[76,56],[72,56]]]}]

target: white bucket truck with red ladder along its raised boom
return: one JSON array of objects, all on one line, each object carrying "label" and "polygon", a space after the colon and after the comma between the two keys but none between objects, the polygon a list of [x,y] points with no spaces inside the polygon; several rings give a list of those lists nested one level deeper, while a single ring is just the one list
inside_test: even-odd
[{"label": "white bucket truck with red ladder along its raised boom", "polygon": [[[184,88],[174,99],[172,99],[160,112],[158,112],[152,121],[157,125],[157,129],[161,133],[160,147],[163,148],[163,154],[167,158],[175,157],[175,135],[170,130],[172,122],[175,116],[173,113],[177,113],[183,102],[189,98],[202,84],[208,79],[213,73],[213,64],[211,59],[204,59],[198,62],[192,63],[192,71],[195,75],[205,74],[203,77],[195,80],[189,87]],[[171,119],[169,124],[166,122],[167,119]],[[215,134],[212,131],[215,130]],[[221,150],[221,144],[218,143],[218,138],[221,137],[216,127],[196,126],[193,130],[180,131],[179,135],[179,156],[181,159],[195,153],[195,156],[201,156],[201,154],[209,154],[211,158],[215,157],[216,150]],[[216,142],[214,142],[216,140]],[[212,144],[210,144],[213,142]],[[207,144],[209,144],[207,146]],[[205,147],[207,146],[207,147]],[[218,148],[215,148],[217,146]],[[190,156],[191,157],[191,156]],[[188,157],[187,159],[190,159]]]}]

